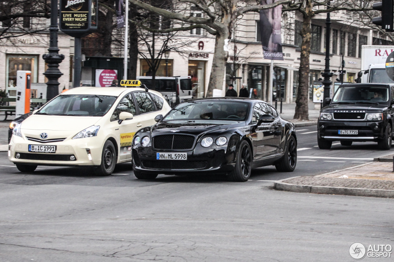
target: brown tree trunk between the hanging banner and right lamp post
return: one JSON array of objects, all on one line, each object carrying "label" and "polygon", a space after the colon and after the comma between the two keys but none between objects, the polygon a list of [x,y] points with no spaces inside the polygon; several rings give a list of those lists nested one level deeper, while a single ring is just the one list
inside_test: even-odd
[{"label": "brown tree trunk between the hanging banner and right lamp post", "polygon": [[298,89],[296,99],[296,112],[294,119],[309,120],[308,115],[308,91],[309,91],[309,52],[310,52],[310,20],[312,18],[312,0],[307,0],[307,15],[303,17],[301,29],[302,44],[298,70]]}]

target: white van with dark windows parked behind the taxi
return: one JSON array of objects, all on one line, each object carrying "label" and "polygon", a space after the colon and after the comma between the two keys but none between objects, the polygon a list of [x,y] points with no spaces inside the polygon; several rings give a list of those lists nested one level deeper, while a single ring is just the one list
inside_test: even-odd
[{"label": "white van with dark windows parked behind the taxi", "polygon": [[191,76],[156,76],[155,88],[152,87],[152,76],[137,76],[136,80],[141,81],[141,84],[149,89],[162,93],[171,107],[194,98]]}]

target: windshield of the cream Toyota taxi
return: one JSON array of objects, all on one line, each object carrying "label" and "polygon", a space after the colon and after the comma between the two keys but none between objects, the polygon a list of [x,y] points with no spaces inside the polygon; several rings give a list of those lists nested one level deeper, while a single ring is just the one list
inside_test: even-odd
[{"label": "windshield of the cream Toyota taxi", "polygon": [[109,95],[59,95],[36,114],[100,117],[110,110],[115,100],[116,97]]}]

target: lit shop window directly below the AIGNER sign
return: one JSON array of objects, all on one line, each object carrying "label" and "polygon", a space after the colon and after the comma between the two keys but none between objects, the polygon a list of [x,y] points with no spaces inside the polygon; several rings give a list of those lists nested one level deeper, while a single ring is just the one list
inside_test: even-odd
[{"label": "lit shop window directly below the AIGNER sign", "polygon": [[189,60],[188,75],[191,76],[193,98],[205,97],[205,61]]}]

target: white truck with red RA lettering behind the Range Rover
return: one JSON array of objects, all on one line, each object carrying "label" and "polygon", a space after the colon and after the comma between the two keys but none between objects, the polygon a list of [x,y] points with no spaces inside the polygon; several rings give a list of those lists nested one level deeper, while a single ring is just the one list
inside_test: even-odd
[{"label": "white truck with red RA lettering behind the Range Rover", "polygon": [[386,59],[394,51],[392,45],[361,46],[361,71],[357,83],[394,83],[386,73]]}]

